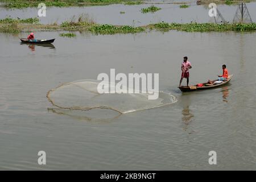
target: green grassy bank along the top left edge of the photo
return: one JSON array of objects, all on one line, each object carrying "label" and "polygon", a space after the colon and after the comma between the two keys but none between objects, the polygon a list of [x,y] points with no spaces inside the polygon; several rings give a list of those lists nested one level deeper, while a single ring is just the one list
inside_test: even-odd
[{"label": "green grassy bank along the top left edge of the photo", "polygon": [[68,6],[102,6],[111,4],[139,5],[143,0],[0,0],[3,7],[10,9],[23,9],[27,7],[38,7],[39,3],[45,3],[46,7],[68,7]]}]

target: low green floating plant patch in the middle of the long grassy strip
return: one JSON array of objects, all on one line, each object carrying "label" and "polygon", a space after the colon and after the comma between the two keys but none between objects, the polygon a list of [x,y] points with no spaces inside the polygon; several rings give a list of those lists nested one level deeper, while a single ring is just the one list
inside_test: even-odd
[{"label": "low green floating plant patch in the middle of the long grassy strip", "polygon": [[143,32],[146,29],[143,27],[132,27],[132,26],[113,26],[111,24],[96,24],[89,27],[89,31],[94,34],[134,34],[137,32]]}]

